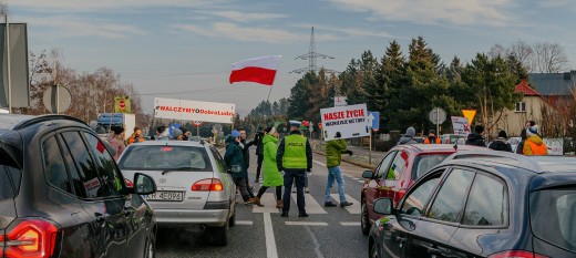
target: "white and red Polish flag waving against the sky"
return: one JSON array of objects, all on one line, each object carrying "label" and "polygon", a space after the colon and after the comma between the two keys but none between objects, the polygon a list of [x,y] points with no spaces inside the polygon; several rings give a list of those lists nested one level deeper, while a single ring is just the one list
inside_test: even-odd
[{"label": "white and red Polish flag waving against the sky", "polygon": [[281,55],[247,59],[232,64],[230,84],[255,82],[272,85]]}]

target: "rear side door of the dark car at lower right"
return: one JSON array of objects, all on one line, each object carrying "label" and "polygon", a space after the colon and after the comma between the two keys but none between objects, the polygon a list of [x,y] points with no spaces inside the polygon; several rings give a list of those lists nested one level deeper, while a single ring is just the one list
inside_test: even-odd
[{"label": "rear side door of the dark car at lower right", "polygon": [[448,255],[448,244],[459,228],[474,176],[475,173],[469,169],[452,169],[439,182],[435,196],[424,207],[425,216],[418,217],[418,220],[405,216],[413,229],[407,231],[405,238],[401,239],[407,242],[405,257]]}]

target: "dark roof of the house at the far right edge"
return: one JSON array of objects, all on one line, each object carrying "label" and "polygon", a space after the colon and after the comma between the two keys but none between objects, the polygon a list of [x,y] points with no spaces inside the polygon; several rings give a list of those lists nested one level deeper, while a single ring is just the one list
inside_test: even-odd
[{"label": "dark roof of the house at the far right edge", "polygon": [[570,86],[576,84],[576,71],[565,73],[531,73],[529,84],[544,96],[572,95]]}]

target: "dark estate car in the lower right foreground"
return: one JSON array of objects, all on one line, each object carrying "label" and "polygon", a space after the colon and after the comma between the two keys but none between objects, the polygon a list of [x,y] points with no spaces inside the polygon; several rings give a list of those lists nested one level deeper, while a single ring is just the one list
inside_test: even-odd
[{"label": "dark estate car in the lower right foreground", "polygon": [[576,157],[459,152],[370,230],[370,257],[576,257]]}]

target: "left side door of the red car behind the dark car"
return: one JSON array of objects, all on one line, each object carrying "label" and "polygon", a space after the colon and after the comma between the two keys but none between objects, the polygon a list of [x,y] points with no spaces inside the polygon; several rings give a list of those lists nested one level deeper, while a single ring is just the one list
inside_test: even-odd
[{"label": "left side door of the red car behind the dark car", "polygon": [[391,151],[388,155],[382,158],[382,162],[376,167],[374,176],[372,179],[369,179],[368,183],[364,184],[364,202],[368,207],[368,215],[373,220],[380,215],[374,213],[373,203],[374,199],[383,197],[381,195],[381,187],[385,187],[385,176],[388,175],[388,168],[390,167],[390,163],[393,161],[397,152]]}]

